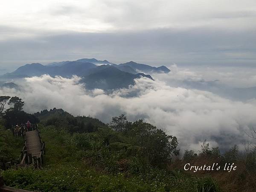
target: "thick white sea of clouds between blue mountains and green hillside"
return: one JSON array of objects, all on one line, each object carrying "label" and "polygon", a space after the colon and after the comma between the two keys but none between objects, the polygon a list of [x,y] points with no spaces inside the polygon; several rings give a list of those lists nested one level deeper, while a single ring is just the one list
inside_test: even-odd
[{"label": "thick white sea of clouds between blue mountains and green hillside", "polygon": [[181,149],[198,150],[205,139],[222,149],[241,145],[247,140],[244,131],[250,132],[256,125],[255,102],[234,102],[207,91],[171,87],[146,78],[109,95],[103,90],[85,90],[78,82],[76,76],[32,77],[20,82],[20,91],[4,88],[0,95],[20,96],[30,113],[56,107],[104,122],[125,113],[129,120],[141,118],[177,136]]}]

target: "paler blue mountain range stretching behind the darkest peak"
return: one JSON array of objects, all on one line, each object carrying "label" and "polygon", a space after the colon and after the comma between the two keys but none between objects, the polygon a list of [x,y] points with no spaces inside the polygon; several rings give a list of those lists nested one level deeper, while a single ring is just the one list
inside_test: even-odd
[{"label": "paler blue mountain range stretching behind the darkest peak", "polygon": [[138,64],[133,61],[124,64],[113,64],[107,60],[100,61],[95,58],[83,58],[76,61],[62,61],[59,63],[52,63],[49,65],[42,65],[40,63],[26,64],[19,67],[12,73],[6,73],[0,76],[0,79],[16,79],[31,76],[41,76],[43,74],[49,74],[50,76],[63,76],[71,77],[72,75],[87,76],[90,73],[94,73],[94,68],[97,65],[111,65],[117,69],[131,74],[137,73],[168,73],[170,70],[165,67],[151,67],[146,64]]}]

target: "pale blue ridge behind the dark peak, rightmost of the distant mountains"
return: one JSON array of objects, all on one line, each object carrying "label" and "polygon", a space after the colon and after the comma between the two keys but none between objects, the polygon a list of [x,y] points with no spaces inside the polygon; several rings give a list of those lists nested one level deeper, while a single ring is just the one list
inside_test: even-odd
[{"label": "pale blue ridge behind the dark peak, rightmost of the distant mountains", "polygon": [[151,67],[146,64],[135,63],[134,61],[130,61],[128,63],[119,64],[119,67],[129,66],[134,70],[141,71],[144,73],[152,74],[152,73],[169,73],[170,70],[165,66],[160,67]]}]

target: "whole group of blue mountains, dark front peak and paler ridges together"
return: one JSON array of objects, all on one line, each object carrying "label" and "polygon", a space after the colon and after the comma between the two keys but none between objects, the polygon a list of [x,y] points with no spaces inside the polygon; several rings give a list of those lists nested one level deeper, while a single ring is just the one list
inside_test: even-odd
[{"label": "whole group of blue mountains, dark front peak and paler ridges together", "polygon": [[[97,66],[99,65],[99,66]],[[124,64],[113,64],[107,60],[99,61],[95,58],[83,58],[76,61],[62,61],[42,65],[39,63],[26,64],[19,67],[12,73],[0,76],[0,79],[16,79],[23,77],[41,76],[63,76],[70,78],[73,75],[80,76],[87,89],[100,88],[112,90],[128,87],[134,84],[134,79],[141,76],[153,79],[151,73],[168,73],[167,67],[151,67],[145,64],[138,64],[133,61]]]}]

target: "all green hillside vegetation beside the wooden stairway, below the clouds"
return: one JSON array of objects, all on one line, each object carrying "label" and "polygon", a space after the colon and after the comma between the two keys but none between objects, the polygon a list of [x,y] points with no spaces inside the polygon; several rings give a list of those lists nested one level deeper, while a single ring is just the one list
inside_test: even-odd
[{"label": "all green hillside vegetation beside the wooden stairway, below the clouds", "polygon": [[[8,112],[5,117],[14,114]],[[16,111],[16,118],[22,118],[23,113]],[[221,154],[218,147],[210,148],[205,140],[199,153],[186,150],[181,160],[177,138],[143,120],[129,122],[121,115],[106,125],[99,119],[74,117],[55,108],[30,117],[41,122],[47,152],[45,164],[41,169],[19,167],[2,172],[8,186],[47,192],[245,192],[256,188],[256,148],[241,154],[234,145]],[[2,121],[2,125],[7,125],[5,119]],[[22,139],[13,137],[3,126],[0,131],[0,142],[4,143],[0,145],[2,156],[15,158]],[[238,170],[185,172],[183,166],[187,162],[234,162]]]}]

